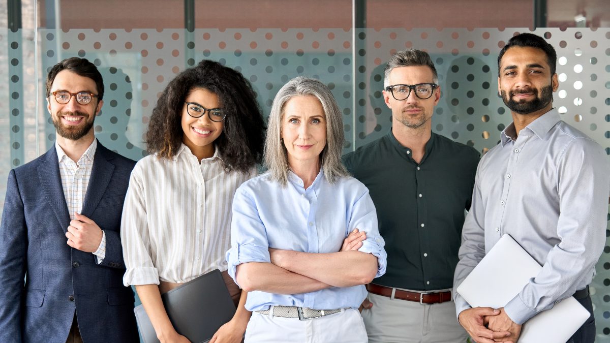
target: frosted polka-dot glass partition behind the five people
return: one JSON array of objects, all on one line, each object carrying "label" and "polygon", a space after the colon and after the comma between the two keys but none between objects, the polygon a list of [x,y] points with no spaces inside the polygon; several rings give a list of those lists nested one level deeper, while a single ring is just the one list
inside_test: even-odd
[{"label": "frosted polka-dot glass partition behind the five people", "polygon": [[[382,93],[387,60],[402,49],[424,49],[436,65],[441,90],[432,130],[484,153],[512,121],[497,94],[496,58],[514,32],[529,29],[38,29],[40,56],[34,56],[31,30],[2,29],[0,42],[7,48],[0,51],[5,61],[0,74],[7,82],[0,83],[5,99],[0,112],[9,122],[9,134],[0,135],[4,170],[31,161],[56,139],[44,87],[38,87],[37,96],[32,96],[32,87],[43,82],[52,65],[71,56],[89,59],[104,76],[106,104],[96,118],[96,135],[112,150],[139,159],[145,154],[146,125],[163,88],[201,59],[241,71],[253,82],[265,115],[289,79],[319,78],[331,88],[343,115],[346,153],[392,126]],[[554,106],[562,119],[610,154],[610,30],[545,28],[534,33],[544,35],[558,52]],[[35,58],[41,61],[38,73]],[[610,335],[610,245],[597,273],[591,289],[598,332]]]}]

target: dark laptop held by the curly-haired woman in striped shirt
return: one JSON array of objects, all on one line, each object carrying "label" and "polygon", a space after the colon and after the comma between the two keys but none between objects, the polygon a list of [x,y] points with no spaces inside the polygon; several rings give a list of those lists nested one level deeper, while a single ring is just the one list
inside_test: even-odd
[{"label": "dark laptop held by the curly-haired woman in striped shirt", "polygon": [[[176,331],[193,343],[205,343],[235,314],[235,305],[220,270],[201,275],[161,295]],[[144,343],[160,343],[144,306],[134,308]]]}]

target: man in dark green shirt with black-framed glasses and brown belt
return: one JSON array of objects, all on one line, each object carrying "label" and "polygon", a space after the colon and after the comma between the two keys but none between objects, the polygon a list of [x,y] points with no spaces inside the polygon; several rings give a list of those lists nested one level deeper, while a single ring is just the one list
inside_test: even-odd
[{"label": "man in dark green shirt with black-framed glasses and brown belt", "polygon": [[451,287],[479,153],[432,133],[440,87],[428,53],[397,52],[383,94],[392,130],[343,157],[370,190],[388,254],[363,304],[369,342],[465,342]]}]

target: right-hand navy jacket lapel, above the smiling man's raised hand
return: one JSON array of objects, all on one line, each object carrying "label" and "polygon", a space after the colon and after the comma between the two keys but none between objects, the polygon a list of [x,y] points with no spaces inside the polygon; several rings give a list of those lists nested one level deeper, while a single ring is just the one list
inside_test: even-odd
[{"label": "right-hand navy jacket lapel, above the smiling man's raised hand", "polygon": [[106,188],[112,178],[112,173],[115,166],[108,162],[112,159],[112,156],[108,153],[109,150],[99,143],[98,148],[95,150],[95,157],[93,157],[93,168],[91,169],[91,178],[87,186],[87,193],[85,194],[85,200],[82,203],[81,214],[91,218],[93,211],[99,204],[102,195],[106,192]]}]

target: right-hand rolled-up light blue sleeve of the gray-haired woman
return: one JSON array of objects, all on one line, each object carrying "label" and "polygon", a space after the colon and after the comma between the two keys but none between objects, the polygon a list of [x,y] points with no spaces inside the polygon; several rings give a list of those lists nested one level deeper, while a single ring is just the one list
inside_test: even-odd
[{"label": "right-hand rolled-up light blue sleeve of the gray-haired woman", "polygon": [[349,234],[355,228],[367,233],[367,239],[362,242],[362,247],[359,248],[358,251],[376,256],[377,273],[375,277],[378,278],[379,276],[384,275],[386,273],[387,262],[387,253],[384,249],[386,241],[384,241],[381,234],[379,234],[377,212],[375,210],[375,204],[373,204],[373,200],[368,194],[368,189],[365,188],[365,192],[362,193],[361,197],[357,198],[351,206],[348,217],[346,234]]}]

